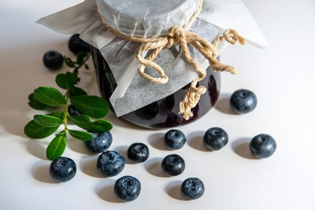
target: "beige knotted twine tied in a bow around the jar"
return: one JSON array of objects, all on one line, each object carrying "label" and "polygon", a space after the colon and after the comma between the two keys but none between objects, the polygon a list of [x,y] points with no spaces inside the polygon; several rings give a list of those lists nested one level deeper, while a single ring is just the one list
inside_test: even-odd
[{"label": "beige knotted twine tied in a bow around the jar", "polygon": [[[139,66],[139,74],[146,80],[156,83],[165,84],[168,82],[168,77],[164,73],[163,69],[160,65],[153,62],[154,58],[161,52],[164,48],[171,48],[172,46],[180,45],[182,52],[187,60],[193,68],[200,74],[197,78],[195,78],[192,82],[190,87],[188,88],[187,92],[184,95],[183,100],[179,103],[179,114],[183,114],[183,118],[188,120],[194,114],[191,111],[192,108],[196,107],[201,94],[206,92],[206,87],[198,86],[196,87],[197,83],[203,80],[206,77],[206,71],[200,65],[198,65],[194,59],[192,58],[190,52],[188,51],[187,44],[193,45],[208,61],[213,71],[217,72],[230,72],[232,74],[237,74],[237,69],[233,66],[225,65],[220,63],[217,59],[217,51],[216,47],[220,42],[224,40],[228,41],[232,45],[236,45],[240,43],[242,45],[246,44],[246,41],[243,37],[238,34],[238,32],[234,29],[228,29],[224,31],[223,36],[218,37],[213,41],[213,43],[209,43],[206,39],[199,37],[196,33],[189,31],[188,29],[196,20],[197,16],[199,15],[201,8],[202,8],[203,0],[199,1],[198,8],[194,12],[193,16],[187,22],[187,24],[183,27],[179,25],[172,26],[166,36],[159,37],[159,38],[139,38],[139,37],[129,37],[126,36],[112,27],[110,27],[102,18],[100,11],[97,10],[98,16],[102,24],[115,36],[120,37],[122,39],[140,42],[142,45],[137,49],[136,57],[140,62]],[[151,54],[145,59],[141,56],[143,51],[152,50]],[[160,74],[160,77],[154,78],[146,73],[144,73],[145,67],[149,65],[156,70]]]}]

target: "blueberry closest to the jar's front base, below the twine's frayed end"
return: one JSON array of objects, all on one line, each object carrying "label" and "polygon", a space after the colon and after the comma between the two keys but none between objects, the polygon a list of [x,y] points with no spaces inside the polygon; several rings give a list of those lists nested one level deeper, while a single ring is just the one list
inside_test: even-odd
[{"label": "blueberry closest to the jar's front base, below the twine's frayed end", "polygon": [[164,144],[170,150],[178,150],[186,143],[186,136],[180,130],[169,130],[164,135]]}]

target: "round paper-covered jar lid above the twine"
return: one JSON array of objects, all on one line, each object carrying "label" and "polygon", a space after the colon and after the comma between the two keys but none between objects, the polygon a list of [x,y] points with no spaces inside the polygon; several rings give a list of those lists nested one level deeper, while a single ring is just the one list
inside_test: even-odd
[{"label": "round paper-covered jar lid above the twine", "polygon": [[130,37],[155,38],[173,25],[183,26],[199,0],[97,0],[103,20]]}]

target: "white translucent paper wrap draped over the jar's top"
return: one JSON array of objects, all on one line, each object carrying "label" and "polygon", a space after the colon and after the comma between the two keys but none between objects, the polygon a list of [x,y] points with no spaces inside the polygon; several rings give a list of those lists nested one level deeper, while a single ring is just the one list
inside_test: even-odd
[{"label": "white translucent paper wrap draped over the jar's top", "polygon": [[[147,7],[149,9],[143,9],[140,6],[132,7],[133,4],[130,4],[130,2],[133,4],[135,2],[143,4],[144,1],[86,0],[81,4],[37,21],[37,23],[59,33],[79,33],[82,40],[100,49],[117,83],[117,88],[112,94],[110,102],[118,117],[174,93],[198,76],[195,69],[181,55],[180,47],[172,47],[170,49],[163,49],[154,59],[154,62],[161,65],[169,77],[168,83],[153,83],[143,79],[137,74],[140,63],[135,58],[136,49],[140,46],[140,43],[115,37],[100,22],[96,10],[98,7],[101,10],[102,18],[109,22],[112,21],[110,25],[116,30],[128,36],[141,35],[151,38],[167,32],[168,28],[174,24],[184,25],[196,10],[199,0],[161,0],[159,1],[159,9],[167,3],[173,9],[171,12],[157,11],[163,18],[157,18],[152,15],[150,17],[149,14],[153,11],[151,11],[152,9],[150,10],[149,6]],[[146,4],[156,4],[154,0],[147,0],[145,2]],[[124,6],[122,8],[123,13],[113,11],[110,16],[108,15],[110,4],[127,4],[129,7]],[[137,8],[139,11],[133,14]],[[156,6],[154,5],[152,8],[156,8]],[[119,8],[117,10],[119,11]],[[104,11],[107,11],[106,17]],[[128,20],[131,17],[128,17],[127,14],[133,15],[133,21],[139,19],[138,22],[136,21],[135,24],[132,24],[132,27],[130,26],[130,30],[127,30],[127,28],[130,25]],[[140,15],[137,16],[135,14]],[[141,18],[142,15],[144,15],[144,18]],[[152,21],[147,24],[144,19],[148,22],[150,22],[149,20]],[[157,20],[159,20],[159,24],[157,26],[153,25],[154,21]],[[212,42],[228,28],[236,29],[248,43],[254,46],[261,48],[268,46],[255,20],[240,0],[204,0],[202,11],[190,30]],[[218,46],[218,54],[228,45],[227,43],[220,44]],[[208,61],[193,47],[188,46],[188,48],[195,61],[200,66],[207,68],[209,65]],[[146,73],[153,77],[158,77],[156,72],[150,67],[146,68]]]}]

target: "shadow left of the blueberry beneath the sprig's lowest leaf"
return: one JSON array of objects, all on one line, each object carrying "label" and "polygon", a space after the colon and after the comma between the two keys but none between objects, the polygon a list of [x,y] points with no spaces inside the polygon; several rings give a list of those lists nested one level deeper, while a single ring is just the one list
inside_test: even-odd
[{"label": "shadow left of the blueberry beneath the sprig's lowest leaf", "polygon": [[49,160],[40,161],[31,167],[30,172],[37,181],[55,184],[57,182],[50,177],[49,166]]}]

